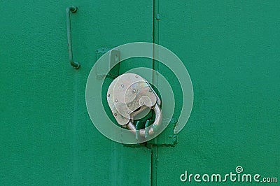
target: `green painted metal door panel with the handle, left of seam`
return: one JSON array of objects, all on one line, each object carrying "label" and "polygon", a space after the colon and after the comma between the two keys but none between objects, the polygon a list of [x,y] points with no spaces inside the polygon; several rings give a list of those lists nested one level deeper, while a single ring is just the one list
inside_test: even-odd
[{"label": "green painted metal door panel with the handle, left of seam", "polygon": [[151,150],[94,128],[85,83],[98,48],[153,41],[153,3],[1,1],[0,15],[0,184],[150,185]]}]

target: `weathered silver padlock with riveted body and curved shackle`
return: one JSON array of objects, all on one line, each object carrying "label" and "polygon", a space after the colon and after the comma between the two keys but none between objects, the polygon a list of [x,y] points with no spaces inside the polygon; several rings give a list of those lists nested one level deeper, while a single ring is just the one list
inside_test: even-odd
[{"label": "weathered silver padlock with riveted body and curved shackle", "polygon": [[146,136],[146,133],[152,136],[160,127],[162,121],[160,98],[151,85],[135,73],[124,73],[113,80],[107,92],[107,101],[118,124],[127,127],[134,134],[137,130],[133,119],[147,108],[155,111],[155,122],[148,131],[140,129],[140,136]]}]

